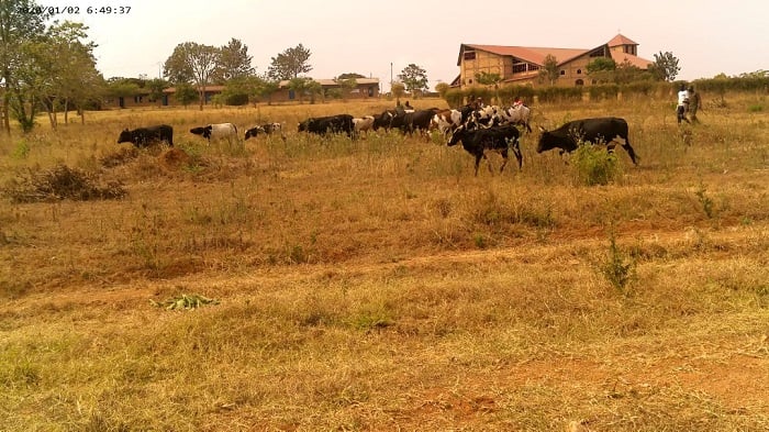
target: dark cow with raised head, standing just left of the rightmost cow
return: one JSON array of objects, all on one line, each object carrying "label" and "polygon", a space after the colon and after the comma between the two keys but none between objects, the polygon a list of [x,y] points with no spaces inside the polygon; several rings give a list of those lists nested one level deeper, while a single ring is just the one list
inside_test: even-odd
[{"label": "dark cow with raised head, standing just left of the rightmost cow", "polygon": [[476,176],[478,176],[478,165],[480,159],[483,158],[489,163],[489,173],[491,173],[491,160],[486,156],[486,152],[498,152],[502,155],[502,166],[500,167],[500,173],[508,165],[508,151],[513,149],[515,158],[519,163],[519,169],[523,165],[523,155],[521,154],[521,133],[514,125],[504,126],[493,126],[486,129],[477,129],[473,131],[468,130],[465,125],[459,126],[452,134],[448,145],[456,145],[461,141],[462,147],[467,153],[476,157]]}]

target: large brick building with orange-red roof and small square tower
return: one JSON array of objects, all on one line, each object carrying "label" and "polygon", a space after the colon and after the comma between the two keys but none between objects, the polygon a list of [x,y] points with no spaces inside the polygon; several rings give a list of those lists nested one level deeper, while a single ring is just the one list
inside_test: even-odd
[{"label": "large brick building with orange-red roof and small square tower", "polygon": [[558,62],[560,76],[556,86],[588,86],[597,84],[587,75],[587,67],[597,57],[612,58],[618,65],[625,60],[640,69],[654,63],[637,56],[638,44],[617,34],[605,44],[592,48],[543,48],[461,44],[459,46],[459,76],[452,87],[478,85],[481,73],[499,74],[503,84],[536,85],[545,58],[553,55]]}]

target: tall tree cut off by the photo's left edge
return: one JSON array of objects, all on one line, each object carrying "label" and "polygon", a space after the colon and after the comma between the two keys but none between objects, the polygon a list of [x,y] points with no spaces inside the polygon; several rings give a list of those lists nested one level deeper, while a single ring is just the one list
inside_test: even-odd
[{"label": "tall tree cut off by the photo's left edge", "polygon": [[9,109],[13,109],[16,118],[22,117],[22,128],[24,124],[31,128],[34,120],[25,112],[29,100],[21,88],[23,81],[19,79],[19,73],[24,65],[25,44],[38,38],[45,30],[45,15],[24,13],[24,10],[36,7],[34,0],[0,1],[0,80],[5,87],[2,95],[2,128],[7,134],[11,133]]}]

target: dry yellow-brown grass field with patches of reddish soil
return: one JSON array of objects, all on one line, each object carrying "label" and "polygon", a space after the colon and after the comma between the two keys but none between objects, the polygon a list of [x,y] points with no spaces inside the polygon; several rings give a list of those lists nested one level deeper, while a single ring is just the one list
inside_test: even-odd
[{"label": "dry yellow-brown grass field with patches of reddish soil", "polygon": [[[672,103],[533,106],[627,120],[604,186],[538,132],[478,177],[297,133],[386,100],[41,118],[0,141],[0,431],[769,430],[768,98]],[[224,121],[287,139],[188,132]]]}]

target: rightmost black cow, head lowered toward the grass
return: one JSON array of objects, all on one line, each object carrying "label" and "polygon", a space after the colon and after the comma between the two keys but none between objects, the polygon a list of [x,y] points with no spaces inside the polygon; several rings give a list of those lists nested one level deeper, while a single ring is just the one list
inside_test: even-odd
[{"label": "rightmost black cow, head lowered toward the grass", "polygon": [[565,152],[577,149],[580,141],[593,144],[601,141],[606,144],[609,152],[613,152],[617,137],[624,141],[624,144],[621,144],[622,148],[631,156],[633,164],[638,165],[635,151],[633,151],[631,142],[627,140],[627,122],[625,119],[615,117],[575,120],[554,131],[542,129],[537,153],[560,148],[560,154],[562,155]]}]

